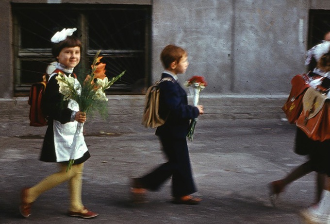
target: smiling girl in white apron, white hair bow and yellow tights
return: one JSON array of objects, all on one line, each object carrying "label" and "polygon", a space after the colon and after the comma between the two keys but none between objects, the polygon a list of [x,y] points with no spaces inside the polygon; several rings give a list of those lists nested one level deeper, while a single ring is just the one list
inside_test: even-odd
[{"label": "smiling girl in white apron, white hair bow and yellow tights", "polygon": [[[47,84],[44,103],[48,115],[48,129],[44,138],[40,160],[54,162],[59,166],[59,172],[53,173],[31,188],[21,191],[19,210],[22,216],[31,215],[33,202],[45,191],[50,190],[64,182],[69,183],[70,207],[69,216],[93,218],[97,213],[88,210],[82,204],[82,171],[84,162],[90,157],[83,136],[79,149],[74,157],[74,164],[66,172],[70,158],[70,145],[77,129],[78,122],[86,121],[86,114],[79,111],[76,101],[63,101],[64,95],[59,92],[59,84],[55,77],[59,72],[72,74],[73,69],[80,62],[81,41],[72,36],[76,30],[64,29],[52,37],[55,43],[52,53],[57,59],[56,70],[52,72]],[[80,85],[77,79],[75,85]],[[82,133],[81,133],[82,135]]]}]

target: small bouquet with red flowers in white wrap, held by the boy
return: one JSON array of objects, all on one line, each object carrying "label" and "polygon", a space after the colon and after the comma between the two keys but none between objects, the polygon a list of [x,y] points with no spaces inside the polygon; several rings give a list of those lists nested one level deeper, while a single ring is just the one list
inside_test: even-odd
[{"label": "small bouquet with red flowers in white wrap, held by the boy", "polygon": [[[207,83],[202,76],[193,76],[185,82],[185,86],[192,87],[191,93],[193,96],[193,104],[194,106],[197,106],[199,102],[199,93],[205,88],[205,86],[207,86]],[[187,137],[191,141],[194,139],[194,131],[197,121],[198,119],[195,118],[190,122],[190,130]]]}]

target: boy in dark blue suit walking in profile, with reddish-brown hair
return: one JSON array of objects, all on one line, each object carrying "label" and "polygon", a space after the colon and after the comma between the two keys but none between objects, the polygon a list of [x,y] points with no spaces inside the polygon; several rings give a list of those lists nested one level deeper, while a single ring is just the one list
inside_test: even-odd
[{"label": "boy in dark blue suit walking in profile, with reddish-brown hair", "polygon": [[168,162],[153,172],[132,181],[132,192],[143,193],[145,190],[158,190],[172,176],[173,203],[197,205],[199,198],[192,197],[196,187],[192,177],[186,136],[189,121],[203,114],[203,106],[188,105],[187,94],[178,83],[178,74],[183,74],[189,63],[188,54],[182,48],[168,45],[161,53],[165,68],[160,83],[159,114],[166,119],[158,127],[156,135],[160,138],[163,152]]}]

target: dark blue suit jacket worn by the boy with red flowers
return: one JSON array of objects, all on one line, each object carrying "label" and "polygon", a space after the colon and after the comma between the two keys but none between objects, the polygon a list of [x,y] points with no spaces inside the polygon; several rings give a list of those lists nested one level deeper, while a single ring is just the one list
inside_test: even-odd
[{"label": "dark blue suit jacket worn by the boy with red flowers", "polygon": [[[173,79],[169,74],[162,74],[162,78],[167,77]],[[159,87],[159,115],[166,121],[157,128],[156,135],[161,138],[186,138],[189,121],[198,117],[198,108],[188,105],[187,93],[176,80],[161,82]]]}]

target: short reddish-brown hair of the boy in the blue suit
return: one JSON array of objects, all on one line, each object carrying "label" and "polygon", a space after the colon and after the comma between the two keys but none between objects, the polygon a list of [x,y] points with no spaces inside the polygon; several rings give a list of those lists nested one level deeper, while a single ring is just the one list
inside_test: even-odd
[{"label": "short reddish-brown hair of the boy in the blue suit", "polygon": [[164,68],[168,69],[171,66],[172,62],[176,61],[177,63],[179,63],[181,58],[187,54],[188,53],[184,49],[170,44],[163,49],[161,53],[161,61],[163,63]]}]

